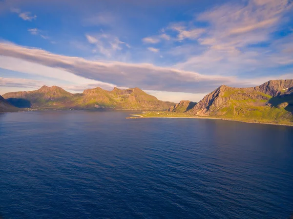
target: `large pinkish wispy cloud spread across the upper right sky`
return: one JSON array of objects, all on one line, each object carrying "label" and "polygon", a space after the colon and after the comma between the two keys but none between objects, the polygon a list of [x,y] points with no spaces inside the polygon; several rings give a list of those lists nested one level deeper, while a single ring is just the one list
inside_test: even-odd
[{"label": "large pinkish wispy cloud spread across the upper right sky", "polygon": [[[227,75],[293,63],[292,54],[281,49],[284,43],[290,47],[292,36],[275,40],[272,35],[287,21],[284,16],[292,7],[290,0],[249,0],[247,3],[227,3],[197,15],[192,22],[206,22],[208,27],[198,43],[189,45],[194,50],[202,48],[204,52],[187,54],[187,60],[175,67]],[[182,24],[172,28],[181,35],[184,33]],[[268,43],[267,46],[255,46],[264,42]]]}]

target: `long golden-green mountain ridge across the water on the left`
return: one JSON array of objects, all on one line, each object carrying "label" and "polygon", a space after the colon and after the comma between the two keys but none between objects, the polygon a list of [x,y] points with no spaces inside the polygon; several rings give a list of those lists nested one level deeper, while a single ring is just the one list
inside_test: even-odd
[{"label": "long golden-green mountain ridge across the water on the left", "polygon": [[96,87],[82,94],[71,94],[61,87],[42,86],[39,90],[6,93],[3,97],[22,108],[166,110],[174,104],[158,100],[139,88],[122,90],[116,87],[112,91]]}]

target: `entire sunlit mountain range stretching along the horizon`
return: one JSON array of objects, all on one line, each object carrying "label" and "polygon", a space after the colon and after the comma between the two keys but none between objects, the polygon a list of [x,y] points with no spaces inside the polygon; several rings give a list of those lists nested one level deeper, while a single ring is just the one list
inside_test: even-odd
[{"label": "entire sunlit mountain range stretching along the horizon", "polygon": [[270,80],[260,86],[235,88],[222,85],[198,103],[175,104],[158,100],[139,88],[112,91],[100,87],[72,94],[57,86],[0,96],[0,112],[20,108],[167,110],[186,117],[215,117],[261,122],[293,122],[293,80]]}]

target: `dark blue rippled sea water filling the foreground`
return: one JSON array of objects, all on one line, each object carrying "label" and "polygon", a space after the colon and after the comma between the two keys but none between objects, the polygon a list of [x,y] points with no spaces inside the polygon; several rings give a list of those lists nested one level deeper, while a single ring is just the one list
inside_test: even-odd
[{"label": "dark blue rippled sea water filling the foreground", "polygon": [[293,213],[292,127],[128,114],[0,114],[0,216],[286,219]]}]

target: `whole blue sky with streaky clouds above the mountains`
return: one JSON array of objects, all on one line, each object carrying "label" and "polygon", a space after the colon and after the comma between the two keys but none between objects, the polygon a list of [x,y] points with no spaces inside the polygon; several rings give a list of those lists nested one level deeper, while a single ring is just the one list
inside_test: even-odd
[{"label": "whole blue sky with streaky clouds above the mountains", "polygon": [[0,95],[139,87],[199,101],[293,79],[293,0],[0,0]]}]

